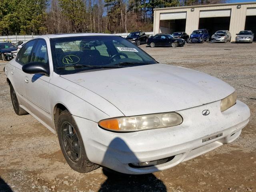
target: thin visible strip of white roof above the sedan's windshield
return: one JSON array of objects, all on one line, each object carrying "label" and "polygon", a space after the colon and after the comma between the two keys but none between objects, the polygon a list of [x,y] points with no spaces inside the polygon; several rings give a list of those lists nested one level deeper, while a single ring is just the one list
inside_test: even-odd
[{"label": "thin visible strip of white roof above the sedan's windshield", "polygon": [[61,37],[78,37],[78,36],[116,36],[114,34],[106,33],[63,33],[63,34],[47,34],[38,36],[36,38],[61,38]]}]

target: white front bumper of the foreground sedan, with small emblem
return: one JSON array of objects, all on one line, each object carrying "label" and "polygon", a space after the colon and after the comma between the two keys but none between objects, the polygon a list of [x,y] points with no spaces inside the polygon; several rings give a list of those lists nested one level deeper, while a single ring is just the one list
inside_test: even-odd
[{"label": "white front bumper of the foreground sedan, with small emblem", "polygon": [[[208,116],[202,115],[205,109],[210,110]],[[238,100],[224,112],[220,112],[217,101],[178,113],[183,117],[178,126],[130,133],[110,132],[99,128],[96,122],[76,116],[74,119],[90,161],[126,174],[147,174],[171,168],[236,140],[250,117],[248,106]],[[222,136],[203,142],[216,134]],[[129,165],[172,156],[172,160],[156,166]]]}]

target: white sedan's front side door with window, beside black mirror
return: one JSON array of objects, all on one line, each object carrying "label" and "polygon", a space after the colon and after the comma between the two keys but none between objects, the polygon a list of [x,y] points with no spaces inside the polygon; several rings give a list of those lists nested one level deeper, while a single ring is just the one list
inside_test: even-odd
[{"label": "white sedan's front side door with window, beside black mirror", "polygon": [[[38,39],[32,50],[31,62],[42,62],[49,67],[48,49],[44,39]],[[43,74],[26,74],[25,90],[29,101],[29,110],[38,118],[51,125],[48,84],[50,76]]]}]

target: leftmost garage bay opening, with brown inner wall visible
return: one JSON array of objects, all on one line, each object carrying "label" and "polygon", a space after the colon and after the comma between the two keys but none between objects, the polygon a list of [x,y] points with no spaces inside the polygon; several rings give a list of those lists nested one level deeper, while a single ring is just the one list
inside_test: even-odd
[{"label": "leftmost garage bay opening, with brown inner wall visible", "polygon": [[159,33],[172,34],[173,32],[184,32],[186,19],[161,20]]}]

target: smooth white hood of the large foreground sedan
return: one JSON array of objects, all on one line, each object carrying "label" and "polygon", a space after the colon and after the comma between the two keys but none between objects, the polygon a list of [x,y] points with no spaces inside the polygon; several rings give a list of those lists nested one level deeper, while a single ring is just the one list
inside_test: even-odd
[{"label": "smooth white hood of the large foreground sedan", "polygon": [[125,116],[179,111],[225,98],[234,88],[182,67],[150,64],[61,75],[116,106]]}]

